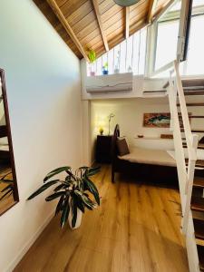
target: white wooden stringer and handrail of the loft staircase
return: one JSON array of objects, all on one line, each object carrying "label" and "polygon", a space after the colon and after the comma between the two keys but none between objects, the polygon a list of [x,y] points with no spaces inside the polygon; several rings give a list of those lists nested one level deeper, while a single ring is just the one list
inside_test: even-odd
[{"label": "white wooden stringer and handrail of the loft staircase", "polygon": [[[198,245],[198,238],[196,238],[195,222],[192,215],[192,191],[194,187],[194,175],[196,170],[197,161],[197,148],[199,135],[192,133],[189,123],[189,113],[187,109],[187,103],[185,99],[185,92],[183,90],[182,81],[180,78],[179,64],[174,61],[168,69],[170,70],[170,79],[166,84],[168,91],[169,102],[170,102],[170,130],[173,133],[174,148],[175,148],[175,160],[177,163],[179,184],[180,184],[180,200],[182,210],[182,233],[186,239],[186,247],[189,259],[189,271],[199,272],[204,271],[203,259],[204,259],[204,229],[202,232],[203,225],[196,225],[199,231],[199,238],[201,242]],[[178,103],[179,101],[179,103]],[[180,111],[178,110],[180,108]],[[182,119],[182,126],[180,128],[180,114]],[[184,152],[183,148],[183,137],[186,139],[186,147],[188,156]],[[189,160],[186,158],[188,157]],[[204,184],[204,178],[201,179],[201,185]],[[203,195],[202,197],[203,198]],[[202,200],[199,200],[199,204],[202,204]],[[200,204],[200,205],[201,205]],[[204,202],[203,202],[204,204]],[[199,212],[202,213],[202,205],[200,206]],[[200,216],[200,218],[202,218]],[[203,205],[203,220],[204,223],[204,205]],[[199,224],[199,223],[198,223]],[[201,229],[201,230],[200,230]],[[201,232],[200,232],[201,231]]]}]

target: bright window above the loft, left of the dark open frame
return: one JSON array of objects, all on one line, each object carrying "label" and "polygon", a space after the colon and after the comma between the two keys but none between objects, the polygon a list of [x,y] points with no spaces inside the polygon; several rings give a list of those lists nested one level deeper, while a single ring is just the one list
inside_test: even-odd
[{"label": "bright window above the loft, left of the dark open frame", "polygon": [[154,70],[158,70],[165,64],[176,59],[180,27],[180,8],[181,1],[177,1],[156,23]]}]

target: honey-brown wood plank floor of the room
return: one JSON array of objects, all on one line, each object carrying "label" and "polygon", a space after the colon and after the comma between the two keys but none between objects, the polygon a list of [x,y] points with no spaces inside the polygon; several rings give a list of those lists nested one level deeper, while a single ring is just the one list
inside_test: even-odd
[{"label": "honey-brown wood plank floor of the room", "polygon": [[15,272],[188,272],[177,190],[137,185],[104,166],[95,179],[102,205],[77,230],[44,229]]}]

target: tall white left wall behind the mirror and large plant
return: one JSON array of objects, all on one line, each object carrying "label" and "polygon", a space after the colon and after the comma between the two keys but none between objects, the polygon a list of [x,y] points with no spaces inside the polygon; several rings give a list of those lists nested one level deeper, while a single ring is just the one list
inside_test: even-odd
[{"label": "tall white left wall behind the mirror and large plant", "polygon": [[25,199],[49,170],[81,164],[82,121],[80,63],[33,1],[1,1],[0,37],[20,195],[0,217],[4,272],[15,266],[53,212],[43,195]]}]

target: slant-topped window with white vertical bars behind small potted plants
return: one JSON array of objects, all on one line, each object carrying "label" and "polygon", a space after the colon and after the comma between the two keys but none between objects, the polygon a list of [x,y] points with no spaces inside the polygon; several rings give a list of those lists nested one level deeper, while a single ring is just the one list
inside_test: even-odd
[{"label": "slant-topped window with white vertical bars behind small potted plants", "polygon": [[105,66],[108,74],[143,74],[145,69],[147,29],[131,35],[108,53],[102,54],[95,63],[87,63],[87,75],[102,75]]}]

